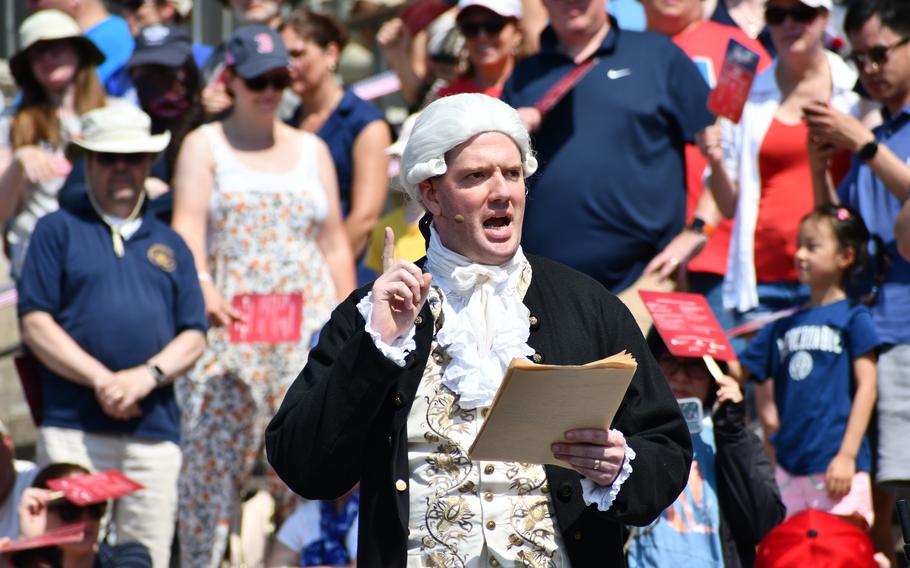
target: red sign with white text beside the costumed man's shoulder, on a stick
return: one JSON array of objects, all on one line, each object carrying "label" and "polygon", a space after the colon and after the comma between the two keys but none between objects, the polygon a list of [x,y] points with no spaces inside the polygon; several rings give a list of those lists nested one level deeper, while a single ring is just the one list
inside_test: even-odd
[{"label": "red sign with white text beside the costumed man's shoulder, on a stick", "polygon": [[736,360],[736,353],[704,296],[646,290],[638,294],[671,354],[677,357],[710,355],[722,361]]}]

